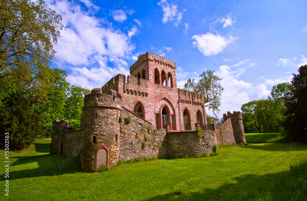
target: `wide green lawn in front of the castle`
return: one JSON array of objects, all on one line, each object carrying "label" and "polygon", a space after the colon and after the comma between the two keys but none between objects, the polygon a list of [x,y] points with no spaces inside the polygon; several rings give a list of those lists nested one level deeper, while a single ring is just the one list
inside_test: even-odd
[{"label": "wide green lawn in front of the castle", "polygon": [[4,196],[1,155],[0,200],[307,200],[305,144],[248,143],[220,148],[217,157],[150,160],[83,173],[75,160],[60,170],[70,159],[49,154],[49,143],[39,140],[10,153],[10,197]]}]

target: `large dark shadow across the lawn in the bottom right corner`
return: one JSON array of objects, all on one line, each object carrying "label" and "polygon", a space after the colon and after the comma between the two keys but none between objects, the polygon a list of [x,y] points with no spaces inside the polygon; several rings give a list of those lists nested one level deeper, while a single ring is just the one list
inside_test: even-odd
[{"label": "large dark shadow across the lawn in the bottom right corner", "polygon": [[236,182],[223,184],[216,189],[202,189],[202,184],[194,192],[157,195],[143,201],[174,200],[307,200],[307,160],[290,171],[265,175],[244,175],[233,178]]}]

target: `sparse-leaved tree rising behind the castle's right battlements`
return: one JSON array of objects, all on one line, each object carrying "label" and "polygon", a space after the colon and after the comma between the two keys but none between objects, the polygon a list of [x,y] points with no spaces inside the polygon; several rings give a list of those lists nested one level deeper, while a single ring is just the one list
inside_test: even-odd
[{"label": "sparse-leaved tree rising behind the castle's right battlements", "polygon": [[198,82],[195,82],[195,79],[189,78],[187,83],[185,83],[184,88],[195,93],[204,95],[205,107],[208,107],[209,110],[219,112],[221,105],[221,96],[224,88],[222,87],[220,81],[222,78],[219,78],[217,75],[214,75],[215,71],[207,70],[204,71],[199,77]]}]

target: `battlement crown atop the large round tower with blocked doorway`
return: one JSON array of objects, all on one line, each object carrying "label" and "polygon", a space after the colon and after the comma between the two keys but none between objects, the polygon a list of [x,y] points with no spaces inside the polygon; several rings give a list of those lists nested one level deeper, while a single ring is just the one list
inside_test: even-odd
[{"label": "battlement crown atop the large round tower with blocked doorway", "polygon": [[92,91],[85,92],[84,106],[86,107],[111,107],[122,108],[122,98],[115,90],[109,89],[108,94],[102,93],[102,88],[94,88]]}]

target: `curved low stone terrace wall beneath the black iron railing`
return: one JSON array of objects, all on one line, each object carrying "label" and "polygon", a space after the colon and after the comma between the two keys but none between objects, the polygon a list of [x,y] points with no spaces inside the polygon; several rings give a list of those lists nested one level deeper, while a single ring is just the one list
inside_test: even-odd
[{"label": "curved low stone terrace wall beneath the black iron railing", "polygon": [[215,131],[203,131],[199,139],[196,132],[171,132],[167,133],[168,157],[186,157],[211,153],[216,144]]}]

